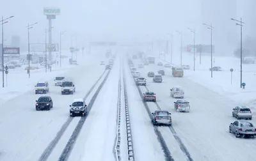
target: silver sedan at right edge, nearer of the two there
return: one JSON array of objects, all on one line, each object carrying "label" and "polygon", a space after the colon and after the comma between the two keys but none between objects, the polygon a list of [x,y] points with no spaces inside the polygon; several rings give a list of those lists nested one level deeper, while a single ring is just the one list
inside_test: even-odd
[{"label": "silver sedan at right edge, nearer of the two there", "polygon": [[234,121],[230,123],[229,132],[235,134],[236,137],[255,137],[256,129],[249,121]]}]

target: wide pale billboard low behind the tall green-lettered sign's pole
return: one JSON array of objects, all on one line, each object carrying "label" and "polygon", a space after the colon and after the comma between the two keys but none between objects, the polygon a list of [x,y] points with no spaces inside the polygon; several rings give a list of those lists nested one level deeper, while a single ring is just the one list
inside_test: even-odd
[{"label": "wide pale billboard low behind the tall green-lettered sign's pole", "polygon": [[[59,51],[59,44],[58,43],[52,43],[46,44],[47,52],[58,52]],[[45,52],[45,43],[30,43],[29,44],[29,50],[31,52]]]}]

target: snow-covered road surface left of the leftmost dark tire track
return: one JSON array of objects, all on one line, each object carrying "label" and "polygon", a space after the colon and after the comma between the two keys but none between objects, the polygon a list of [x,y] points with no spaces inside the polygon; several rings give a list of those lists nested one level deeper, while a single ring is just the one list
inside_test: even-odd
[{"label": "snow-covered road surface left of the leftmost dark tire track", "polygon": [[54,104],[51,111],[35,111],[35,100],[40,95],[32,92],[6,102],[0,114],[0,128],[4,129],[0,134],[0,143],[4,147],[4,157],[8,160],[15,160],[13,157],[19,156],[20,159],[27,160],[31,154],[35,155],[35,153],[39,157],[69,117],[69,105],[74,98],[83,98],[103,71],[104,69],[97,65],[83,67],[77,70],[76,74],[70,73],[77,80],[77,93],[60,95],[60,88],[50,89],[47,95],[52,96]]}]

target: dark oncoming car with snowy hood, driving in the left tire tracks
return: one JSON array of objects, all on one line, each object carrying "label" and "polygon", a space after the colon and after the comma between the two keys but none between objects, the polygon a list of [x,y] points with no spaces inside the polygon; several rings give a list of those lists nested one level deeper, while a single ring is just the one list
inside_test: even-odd
[{"label": "dark oncoming car with snowy hood, driving in the left tire tracks", "polygon": [[83,98],[75,99],[70,105],[69,115],[72,116],[85,116],[87,113],[87,105]]}]

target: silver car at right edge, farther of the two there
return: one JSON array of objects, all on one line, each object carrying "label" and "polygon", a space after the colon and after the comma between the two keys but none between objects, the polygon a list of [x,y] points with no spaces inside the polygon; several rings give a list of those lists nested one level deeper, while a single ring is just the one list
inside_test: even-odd
[{"label": "silver car at right edge, farther of the two there", "polygon": [[252,111],[246,105],[241,105],[233,109],[232,116],[237,119],[252,119]]}]

